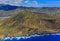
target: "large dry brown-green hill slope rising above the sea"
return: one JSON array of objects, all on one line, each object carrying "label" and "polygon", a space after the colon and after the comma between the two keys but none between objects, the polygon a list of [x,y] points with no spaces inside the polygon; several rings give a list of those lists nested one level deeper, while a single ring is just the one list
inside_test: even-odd
[{"label": "large dry brown-green hill slope rising above the sea", "polygon": [[2,36],[28,36],[32,34],[56,33],[55,19],[47,14],[38,14],[22,10],[18,14],[1,21],[0,35]]}]

